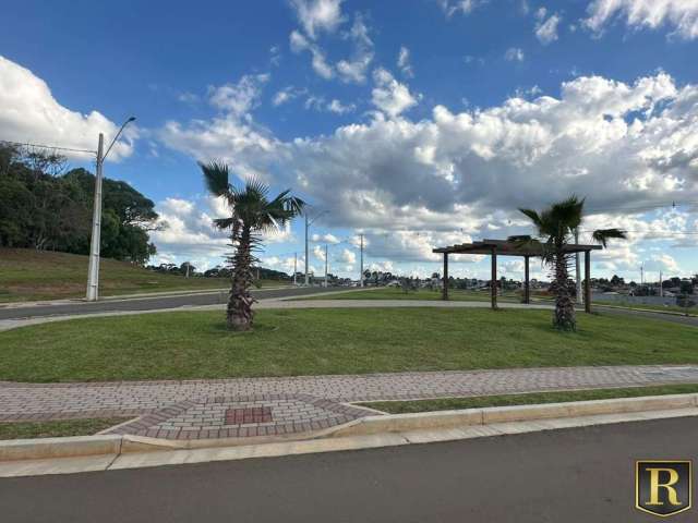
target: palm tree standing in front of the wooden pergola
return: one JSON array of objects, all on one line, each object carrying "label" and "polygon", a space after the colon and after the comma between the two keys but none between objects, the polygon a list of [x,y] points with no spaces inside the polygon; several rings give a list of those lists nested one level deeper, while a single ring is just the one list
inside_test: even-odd
[{"label": "palm tree standing in front of the wooden pergola", "polygon": [[[569,266],[571,253],[566,246],[571,243],[575,230],[579,228],[583,220],[585,200],[570,196],[569,198],[551,205],[549,208],[538,212],[532,209],[519,209],[533,222],[538,230],[538,235],[509,236],[509,241],[521,246],[537,245],[542,251],[543,265],[551,268],[552,290],[555,293],[555,314],[553,326],[561,330],[576,330],[577,320],[575,318],[575,304],[571,300],[569,285]],[[600,229],[593,231],[594,242],[604,247],[612,238],[626,238],[624,231],[619,229]]]}]

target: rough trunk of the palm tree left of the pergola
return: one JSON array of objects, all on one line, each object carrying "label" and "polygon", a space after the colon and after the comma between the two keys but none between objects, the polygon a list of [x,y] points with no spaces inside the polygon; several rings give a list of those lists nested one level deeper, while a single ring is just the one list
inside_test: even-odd
[{"label": "rough trunk of the palm tree left of the pergola", "polygon": [[[233,239],[234,242],[234,239]],[[250,294],[252,285],[252,245],[249,227],[242,227],[238,239],[236,254],[232,258],[232,282],[228,297],[227,324],[230,330],[252,329],[252,304],[254,299]]]}]

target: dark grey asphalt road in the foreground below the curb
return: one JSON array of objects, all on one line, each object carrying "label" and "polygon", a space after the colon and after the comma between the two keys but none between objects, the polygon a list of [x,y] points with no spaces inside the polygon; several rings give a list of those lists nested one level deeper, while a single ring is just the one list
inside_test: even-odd
[{"label": "dark grey asphalt road in the foreground below the curb", "polygon": [[[3,523],[653,522],[634,461],[698,458],[698,417],[351,452],[0,479]],[[698,519],[698,508],[672,521]]]}]

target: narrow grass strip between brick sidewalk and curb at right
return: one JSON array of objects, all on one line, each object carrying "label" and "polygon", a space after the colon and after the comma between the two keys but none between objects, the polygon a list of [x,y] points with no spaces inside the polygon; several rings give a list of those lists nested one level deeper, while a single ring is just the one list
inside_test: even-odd
[{"label": "narrow grass strip between brick sidewalk and curb at right", "polygon": [[410,414],[416,412],[482,409],[485,406],[534,405],[540,403],[610,400],[614,398],[638,398],[641,396],[688,394],[694,392],[698,392],[698,384],[629,387],[625,389],[569,390],[527,394],[481,396],[476,398],[444,398],[440,400],[372,401],[358,404],[375,409],[377,411],[387,412],[389,414]]}]

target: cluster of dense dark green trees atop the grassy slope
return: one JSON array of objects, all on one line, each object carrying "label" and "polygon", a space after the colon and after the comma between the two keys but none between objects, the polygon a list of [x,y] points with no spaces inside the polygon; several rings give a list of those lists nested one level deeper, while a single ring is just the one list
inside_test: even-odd
[{"label": "cluster of dense dark green trees atop the grassy slope", "polygon": [[[0,246],[88,254],[95,175],[65,157],[0,143]],[[125,182],[104,179],[101,255],[143,265],[156,253],[155,204]]]}]

